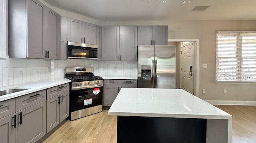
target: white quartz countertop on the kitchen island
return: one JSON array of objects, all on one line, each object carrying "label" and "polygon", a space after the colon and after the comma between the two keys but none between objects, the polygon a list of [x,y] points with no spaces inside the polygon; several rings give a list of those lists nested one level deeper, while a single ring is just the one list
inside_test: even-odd
[{"label": "white quartz countertop on the kitchen island", "polygon": [[122,88],[108,111],[114,116],[232,119],[182,89]]}]

